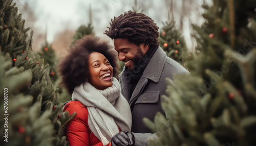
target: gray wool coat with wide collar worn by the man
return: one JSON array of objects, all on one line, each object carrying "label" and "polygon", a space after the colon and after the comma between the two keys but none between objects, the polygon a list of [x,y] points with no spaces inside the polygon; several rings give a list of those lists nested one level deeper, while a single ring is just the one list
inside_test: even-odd
[{"label": "gray wool coat with wide collar worn by the man", "polygon": [[121,84],[121,93],[129,102],[132,110],[132,132],[135,136],[135,145],[147,145],[147,139],[152,138],[152,130],[148,129],[142,119],[144,117],[154,121],[157,112],[161,112],[161,95],[165,94],[167,84],[165,79],[175,74],[189,73],[178,62],[166,56],[159,46],[148,62],[142,77],[136,85],[131,99],[129,99],[129,79],[126,76],[125,67],[118,76]]}]

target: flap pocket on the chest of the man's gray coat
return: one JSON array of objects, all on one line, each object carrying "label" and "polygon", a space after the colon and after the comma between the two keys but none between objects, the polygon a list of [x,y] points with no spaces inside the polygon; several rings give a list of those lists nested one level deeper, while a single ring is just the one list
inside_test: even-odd
[{"label": "flap pocket on the chest of the man's gray coat", "polygon": [[160,96],[160,91],[149,91],[142,93],[135,104],[150,104],[150,103],[158,103]]}]

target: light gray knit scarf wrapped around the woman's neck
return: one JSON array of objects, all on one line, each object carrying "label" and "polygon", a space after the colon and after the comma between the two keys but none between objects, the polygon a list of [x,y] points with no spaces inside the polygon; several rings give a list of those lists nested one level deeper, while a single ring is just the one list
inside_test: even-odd
[{"label": "light gray knit scarf wrapped around the woman's neck", "polygon": [[108,144],[119,130],[131,131],[132,114],[128,102],[121,94],[120,84],[116,78],[113,85],[104,90],[98,90],[86,82],[75,87],[72,100],[87,106],[88,124],[93,134],[103,145]]}]

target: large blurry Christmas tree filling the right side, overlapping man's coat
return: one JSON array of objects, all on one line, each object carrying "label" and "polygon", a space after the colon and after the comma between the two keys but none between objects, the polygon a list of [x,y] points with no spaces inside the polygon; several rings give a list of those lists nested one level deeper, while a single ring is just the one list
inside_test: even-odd
[{"label": "large blurry Christmas tree filling the right side, overlapping man's coat", "polygon": [[204,2],[190,75],[166,79],[151,145],[256,144],[256,1]]}]

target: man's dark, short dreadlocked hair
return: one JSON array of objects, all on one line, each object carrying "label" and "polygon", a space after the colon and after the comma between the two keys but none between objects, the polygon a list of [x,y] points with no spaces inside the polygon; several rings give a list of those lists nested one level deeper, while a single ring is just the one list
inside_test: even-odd
[{"label": "man's dark, short dreadlocked hair", "polygon": [[136,45],[148,44],[150,47],[159,45],[159,28],[151,17],[143,13],[128,11],[117,18],[114,17],[108,29],[104,34],[112,39],[127,38]]}]

